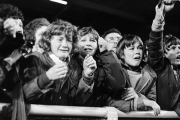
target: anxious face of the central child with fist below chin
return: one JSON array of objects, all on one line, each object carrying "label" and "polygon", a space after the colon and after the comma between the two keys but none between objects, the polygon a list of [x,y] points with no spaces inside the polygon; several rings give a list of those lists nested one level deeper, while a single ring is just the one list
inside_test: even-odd
[{"label": "anxious face of the central child with fist below chin", "polygon": [[76,43],[79,53],[81,56],[85,57],[87,54],[94,55],[98,46],[97,40],[93,37],[93,34],[87,34],[81,37]]}]

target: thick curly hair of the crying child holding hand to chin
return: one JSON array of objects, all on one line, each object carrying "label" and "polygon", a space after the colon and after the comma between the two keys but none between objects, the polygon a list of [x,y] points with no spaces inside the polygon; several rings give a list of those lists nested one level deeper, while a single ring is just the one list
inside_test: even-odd
[{"label": "thick curly hair of the crying child holding hand to chin", "polygon": [[50,41],[51,37],[54,35],[62,35],[65,34],[65,37],[68,41],[71,41],[72,44],[76,41],[77,37],[77,27],[72,25],[70,22],[57,19],[56,21],[52,22],[42,35],[39,46],[44,51],[49,52],[50,49]]}]

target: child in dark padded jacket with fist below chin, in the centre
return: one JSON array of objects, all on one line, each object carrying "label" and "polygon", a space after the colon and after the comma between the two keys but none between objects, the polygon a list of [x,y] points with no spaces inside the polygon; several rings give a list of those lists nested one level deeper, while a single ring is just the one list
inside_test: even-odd
[{"label": "child in dark padded jacket with fist below chin, in the centre", "polygon": [[103,107],[106,105],[107,96],[122,89],[124,85],[120,80],[123,74],[118,58],[113,51],[105,50],[99,53],[99,34],[92,27],[80,29],[77,36],[77,53],[72,56],[72,60],[77,61],[82,80],[92,87],[85,98],[79,99],[78,105],[85,99],[84,106]]}]

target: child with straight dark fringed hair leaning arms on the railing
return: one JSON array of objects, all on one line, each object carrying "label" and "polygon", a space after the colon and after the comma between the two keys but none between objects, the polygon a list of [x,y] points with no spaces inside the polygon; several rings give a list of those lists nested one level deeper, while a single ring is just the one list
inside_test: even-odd
[{"label": "child with straight dark fringed hair leaning arms on the railing", "polygon": [[125,35],[117,45],[117,56],[122,65],[126,87],[123,91],[111,95],[108,105],[123,112],[151,108],[155,115],[160,114],[160,107],[155,102],[156,74],[142,61],[143,42],[140,37]]}]

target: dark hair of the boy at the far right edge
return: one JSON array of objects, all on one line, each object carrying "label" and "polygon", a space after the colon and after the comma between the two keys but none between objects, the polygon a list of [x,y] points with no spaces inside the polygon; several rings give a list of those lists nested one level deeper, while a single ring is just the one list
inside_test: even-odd
[{"label": "dark hair of the boy at the far right edge", "polygon": [[164,36],[163,40],[164,51],[165,49],[169,50],[172,45],[180,45],[180,39],[171,34]]}]

